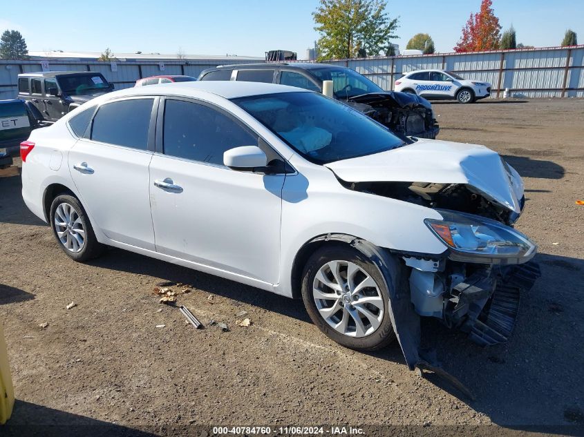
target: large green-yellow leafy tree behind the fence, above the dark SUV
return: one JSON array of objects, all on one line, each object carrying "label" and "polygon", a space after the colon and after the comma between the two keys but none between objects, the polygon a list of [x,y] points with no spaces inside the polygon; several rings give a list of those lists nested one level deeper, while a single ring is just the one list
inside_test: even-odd
[{"label": "large green-yellow leafy tree behind the fence, above the dark SUV", "polygon": [[320,0],[312,12],[320,34],[319,59],[351,58],[387,52],[397,29],[383,0]]}]

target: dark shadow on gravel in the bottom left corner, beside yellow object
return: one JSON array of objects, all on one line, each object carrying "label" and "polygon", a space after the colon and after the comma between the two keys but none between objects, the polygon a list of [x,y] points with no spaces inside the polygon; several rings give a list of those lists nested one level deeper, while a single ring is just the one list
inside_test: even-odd
[{"label": "dark shadow on gravel in the bottom left corner, beside yellow object", "polygon": [[0,427],[6,437],[158,437],[115,423],[66,413],[42,405],[16,400],[12,417]]}]

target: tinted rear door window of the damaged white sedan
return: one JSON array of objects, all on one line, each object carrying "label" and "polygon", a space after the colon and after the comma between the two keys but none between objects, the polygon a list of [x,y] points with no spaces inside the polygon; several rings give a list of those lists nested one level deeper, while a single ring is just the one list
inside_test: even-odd
[{"label": "tinted rear door window of the damaged white sedan", "polygon": [[133,99],[104,104],[93,118],[91,139],[147,150],[153,99]]}]

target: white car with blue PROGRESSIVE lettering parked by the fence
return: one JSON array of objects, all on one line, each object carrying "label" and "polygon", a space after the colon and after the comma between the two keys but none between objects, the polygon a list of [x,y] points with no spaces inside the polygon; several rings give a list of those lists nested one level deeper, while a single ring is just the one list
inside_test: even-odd
[{"label": "white car with blue PROGRESSIVE lettering parked by the fence", "polygon": [[446,70],[415,70],[397,79],[395,90],[417,94],[425,99],[456,99],[467,104],[489,97],[491,84],[466,80]]}]

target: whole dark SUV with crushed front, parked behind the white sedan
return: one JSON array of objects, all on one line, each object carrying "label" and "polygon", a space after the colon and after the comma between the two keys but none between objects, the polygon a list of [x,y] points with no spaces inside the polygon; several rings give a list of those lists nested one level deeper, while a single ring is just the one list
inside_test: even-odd
[{"label": "whole dark SUV with crushed front, parked behind the white sedan", "polygon": [[323,92],[332,81],[332,95],[390,128],[400,137],[435,139],[440,131],[432,105],[424,97],[385,91],[350,68],[311,63],[245,64],[209,68],[198,80],[234,80],[296,86]]}]

